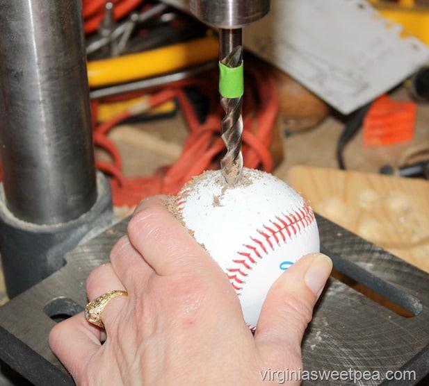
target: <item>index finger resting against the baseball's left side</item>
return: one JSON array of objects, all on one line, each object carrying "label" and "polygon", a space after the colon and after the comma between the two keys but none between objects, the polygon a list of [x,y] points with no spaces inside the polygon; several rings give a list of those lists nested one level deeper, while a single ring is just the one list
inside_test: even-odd
[{"label": "index finger resting against the baseball's left side", "polygon": [[144,199],[129,221],[131,244],[159,275],[181,271],[218,270],[220,267],[197,244],[165,205],[165,196]]}]

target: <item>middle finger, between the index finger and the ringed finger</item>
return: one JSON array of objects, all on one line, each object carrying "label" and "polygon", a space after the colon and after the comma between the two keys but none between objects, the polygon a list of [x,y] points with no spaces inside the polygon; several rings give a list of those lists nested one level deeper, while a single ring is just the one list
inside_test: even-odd
[{"label": "middle finger, between the index finger and the ringed finger", "polygon": [[129,238],[123,236],[111,251],[113,271],[120,278],[124,287],[135,292],[136,286],[143,288],[154,270],[143,256],[131,245]]}]

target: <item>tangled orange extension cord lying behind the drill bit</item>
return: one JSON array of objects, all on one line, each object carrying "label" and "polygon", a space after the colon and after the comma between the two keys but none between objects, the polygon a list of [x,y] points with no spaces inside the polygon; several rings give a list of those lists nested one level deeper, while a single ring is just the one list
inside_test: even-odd
[{"label": "tangled orange extension cord lying behind the drill bit", "polygon": [[[220,137],[220,121],[225,112],[218,100],[216,74],[208,74],[185,81],[165,85],[156,90],[146,91],[149,106],[175,99],[188,125],[189,135],[184,143],[181,156],[174,165],[159,167],[153,176],[127,178],[122,173],[120,152],[108,138],[108,133],[121,121],[131,117],[132,112],[124,112],[94,127],[95,146],[104,149],[111,156],[111,162],[98,160],[97,169],[111,178],[113,205],[133,207],[145,196],[153,194],[177,194],[181,187],[193,176],[207,169],[219,169],[220,158],[226,149]],[[184,87],[197,87],[209,99],[209,112],[200,123],[192,103],[186,97]],[[143,93],[139,93],[141,95]],[[122,95],[122,99],[136,97],[136,93]],[[118,97],[109,99],[118,100]],[[106,99],[103,100],[106,103]],[[97,121],[97,105],[92,101],[92,116]],[[277,118],[278,97],[275,81],[257,65],[245,69],[245,94],[243,96],[243,159],[245,167],[273,169],[273,159],[269,151],[273,126]]]}]

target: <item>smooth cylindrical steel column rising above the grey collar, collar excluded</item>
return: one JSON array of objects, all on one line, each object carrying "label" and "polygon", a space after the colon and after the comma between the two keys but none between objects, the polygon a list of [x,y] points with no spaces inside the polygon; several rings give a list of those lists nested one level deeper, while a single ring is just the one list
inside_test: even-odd
[{"label": "smooth cylindrical steel column rising above the grey collar, collar excluded", "polygon": [[0,0],[0,152],[6,205],[58,224],[97,199],[81,1]]}]

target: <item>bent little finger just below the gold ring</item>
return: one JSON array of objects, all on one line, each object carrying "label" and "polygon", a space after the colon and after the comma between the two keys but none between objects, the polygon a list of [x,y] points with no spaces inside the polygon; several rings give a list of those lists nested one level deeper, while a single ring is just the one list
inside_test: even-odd
[{"label": "bent little finger just below the gold ring", "polygon": [[62,321],[49,333],[49,346],[60,362],[70,371],[77,385],[80,385],[80,374],[91,358],[99,351],[99,328],[89,325],[83,312]]}]

